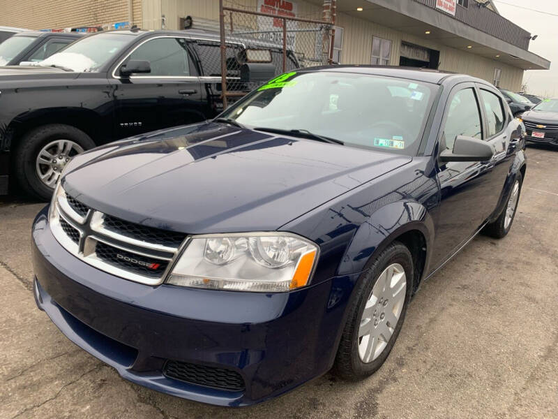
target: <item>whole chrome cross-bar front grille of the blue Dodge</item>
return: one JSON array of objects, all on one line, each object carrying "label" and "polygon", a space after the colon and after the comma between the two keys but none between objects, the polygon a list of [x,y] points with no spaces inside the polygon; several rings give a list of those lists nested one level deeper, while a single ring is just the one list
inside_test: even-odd
[{"label": "whole chrome cross-bar front grille of the blue Dodge", "polygon": [[56,240],[77,258],[110,274],[148,285],[163,282],[186,235],[130,223],[56,190],[50,210]]}]

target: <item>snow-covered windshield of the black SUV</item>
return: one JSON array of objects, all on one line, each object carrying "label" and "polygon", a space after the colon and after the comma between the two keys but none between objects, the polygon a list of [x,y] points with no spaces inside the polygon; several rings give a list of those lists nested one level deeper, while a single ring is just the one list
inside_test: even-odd
[{"label": "snow-covered windshield of the black SUV", "polygon": [[40,61],[40,66],[61,66],[72,71],[99,71],[107,61],[119,54],[133,38],[123,34],[86,36]]}]

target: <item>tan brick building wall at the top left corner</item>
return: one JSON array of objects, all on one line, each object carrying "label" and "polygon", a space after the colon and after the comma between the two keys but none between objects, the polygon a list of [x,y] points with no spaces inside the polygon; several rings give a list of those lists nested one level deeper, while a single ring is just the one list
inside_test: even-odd
[{"label": "tan brick building wall at the top left corner", "polygon": [[142,24],[142,0],[0,0],[0,26],[28,29]]}]

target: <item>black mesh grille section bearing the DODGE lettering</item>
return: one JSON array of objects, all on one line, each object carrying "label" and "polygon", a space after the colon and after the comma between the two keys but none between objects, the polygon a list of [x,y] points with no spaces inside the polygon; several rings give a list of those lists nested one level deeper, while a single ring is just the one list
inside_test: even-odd
[{"label": "black mesh grille section bearing the DODGE lettering", "polygon": [[116,267],[120,267],[146,277],[159,278],[167,269],[167,260],[148,258],[129,251],[117,249],[103,242],[98,242],[95,253],[99,259]]}]

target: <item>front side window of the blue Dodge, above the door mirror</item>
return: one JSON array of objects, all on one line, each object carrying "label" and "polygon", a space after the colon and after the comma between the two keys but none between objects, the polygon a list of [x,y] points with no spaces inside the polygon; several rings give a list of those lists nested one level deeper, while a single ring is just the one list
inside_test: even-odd
[{"label": "front side window of the blue Dodge, above the door mirror", "polygon": [[474,89],[458,91],[451,99],[444,135],[448,149],[453,149],[455,137],[458,135],[466,135],[479,140],[483,138],[481,113],[478,110]]}]

